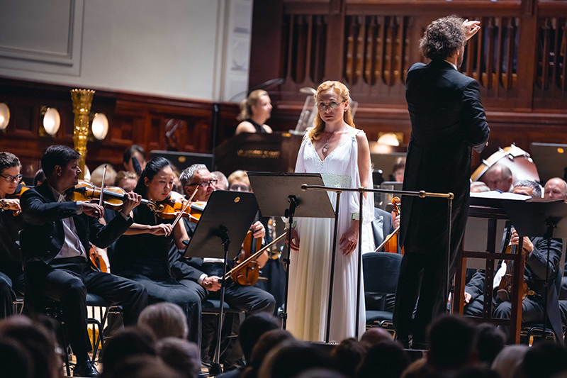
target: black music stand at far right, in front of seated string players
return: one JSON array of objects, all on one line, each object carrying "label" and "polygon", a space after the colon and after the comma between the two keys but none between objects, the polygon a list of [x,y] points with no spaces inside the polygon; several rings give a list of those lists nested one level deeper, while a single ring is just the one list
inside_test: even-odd
[{"label": "black music stand at far right, in front of seated string players", "polygon": [[[556,199],[532,198],[527,201],[502,200],[518,235],[542,237],[547,240],[546,277],[549,276],[549,248],[551,238],[567,238],[567,204]],[[521,273],[523,274],[523,272]],[[544,295],[544,334],[547,323],[547,291]]]}]

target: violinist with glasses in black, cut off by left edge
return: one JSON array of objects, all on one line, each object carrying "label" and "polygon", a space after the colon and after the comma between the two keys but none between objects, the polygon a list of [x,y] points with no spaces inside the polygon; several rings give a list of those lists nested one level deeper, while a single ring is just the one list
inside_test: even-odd
[{"label": "violinist with glasses in black, cut off by left edge", "polygon": [[13,315],[16,293],[23,295],[23,269],[19,233],[22,217],[20,200],[9,198],[21,187],[20,160],[10,152],[0,152],[0,319]]}]

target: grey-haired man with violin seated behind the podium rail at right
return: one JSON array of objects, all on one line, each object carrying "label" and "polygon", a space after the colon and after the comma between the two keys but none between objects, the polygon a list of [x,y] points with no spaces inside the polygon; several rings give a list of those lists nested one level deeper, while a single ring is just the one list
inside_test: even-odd
[{"label": "grey-haired man with violin seated behind the podium rail at right", "polygon": [[[537,182],[531,180],[520,180],[514,185],[513,193],[525,194],[527,196],[541,197],[541,188]],[[520,238],[516,230],[511,231],[510,244],[517,245]],[[562,242],[561,239],[551,239],[549,249],[549,274],[546,276],[546,265],[548,259],[547,240],[544,238],[524,237],[523,253],[526,258],[524,269],[524,280],[527,283],[527,297],[522,301],[522,323],[524,322],[544,322],[544,299],[545,287],[548,287],[547,296],[547,315],[551,328],[558,336],[558,343],[563,343],[563,331],[561,329],[561,314],[559,312],[558,292],[556,280],[561,280],[558,276],[559,262],[561,260]],[[500,269],[502,262],[498,264]],[[497,269],[497,272],[498,272]],[[496,274],[498,276],[498,274]],[[498,282],[495,282],[498,283]],[[498,285],[494,284],[493,296],[493,318],[509,319],[512,311],[510,301],[503,301],[496,295]],[[464,314],[469,316],[481,316],[483,311],[483,292],[484,292],[484,272],[476,272],[471,281],[465,287],[465,308]],[[502,327],[507,334],[508,327]]]}]

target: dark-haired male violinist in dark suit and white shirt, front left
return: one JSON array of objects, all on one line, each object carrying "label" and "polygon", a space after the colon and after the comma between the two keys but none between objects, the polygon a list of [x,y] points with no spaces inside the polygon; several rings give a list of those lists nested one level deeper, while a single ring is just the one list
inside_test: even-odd
[{"label": "dark-haired male violinist in dark suit and white shirt, front left", "polygon": [[124,323],[132,325],[147,306],[147,291],[130,279],[95,271],[89,265],[89,243],[113,243],[133,223],[129,213],[140,196],[127,194],[120,214],[107,226],[104,209],[90,202],[69,201],[79,182],[79,152],[63,145],[48,147],[41,158],[45,182],[21,196],[21,249],[26,278],[26,306],[45,312],[45,299],[58,302],[77,365],[74,375],[96,377],[87,354],[86,293],[123,306]]}]

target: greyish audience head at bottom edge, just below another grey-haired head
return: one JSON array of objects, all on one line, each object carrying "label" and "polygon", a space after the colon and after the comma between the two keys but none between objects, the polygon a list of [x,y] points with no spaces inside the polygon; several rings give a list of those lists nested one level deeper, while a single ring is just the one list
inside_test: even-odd
[{"label": "greyish audience head at bottom edge, just below another grey-haired head", "polygon": [[157,355],[187,378],[201,374],[201,357],[195,343],[180,338],[164,338],[156,345]]}]

